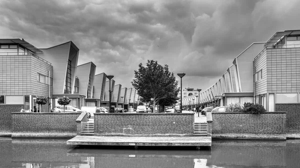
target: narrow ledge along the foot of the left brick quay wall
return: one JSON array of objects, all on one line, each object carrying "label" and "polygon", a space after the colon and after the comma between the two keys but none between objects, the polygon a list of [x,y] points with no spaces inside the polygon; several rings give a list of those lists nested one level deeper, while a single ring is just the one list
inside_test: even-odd
[{"label": "narrow ledge along the foot of the left brick quay wall", "polygon": [[12,133],[11,138],[72,138],[76,133]]}]

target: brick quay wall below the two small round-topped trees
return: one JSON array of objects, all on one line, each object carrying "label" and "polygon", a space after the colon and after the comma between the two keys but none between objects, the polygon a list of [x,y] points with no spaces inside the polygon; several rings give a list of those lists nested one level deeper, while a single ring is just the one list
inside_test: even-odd
[{"label": "brick quay wall below the two small round-topped trees", "polygon": [[80,113],[12,113],[11,137],[72,138]]}]

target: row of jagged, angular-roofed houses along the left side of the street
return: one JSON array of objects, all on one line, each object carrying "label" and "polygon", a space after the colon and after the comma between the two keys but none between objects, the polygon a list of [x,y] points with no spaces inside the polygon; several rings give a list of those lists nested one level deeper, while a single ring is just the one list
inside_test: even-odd
[{"label": "row of jagged, angular-roofed houses along the left side of the street", "polygon": [[[92,62],[77,65],[78,47],[68,41],[49,48],[36,48],[23,39],[0,39],[0,106],[22,105],[29,111],[49,112],[58,97],[71,99],[70,105],[108,107],[109,81],[105,73],[95,74]],[[112,107],[129,107],[138,100],[135,92],[111,82]],[[47,97],[47,105],[36,105],[37,96]],[[120,101],[122,97],[123,102]]]}]

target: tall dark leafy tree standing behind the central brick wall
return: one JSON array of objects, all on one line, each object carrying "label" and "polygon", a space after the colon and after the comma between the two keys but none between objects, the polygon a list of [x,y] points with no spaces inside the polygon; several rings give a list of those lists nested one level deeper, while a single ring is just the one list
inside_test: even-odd
[{"label": "tall dark leafy tree standing behind the central brick wall", "polygon": [[154,112],[159,101],[173,103],[177,100],[173,95],[177,95],[179,91],[178,81],[173,72],[169,72],[168,65],[162,66],[157,61],[148,60],[146,66],[140,63],[138,70],[134,71],[131,84],[145,101],[149,102],[153,98]]}]

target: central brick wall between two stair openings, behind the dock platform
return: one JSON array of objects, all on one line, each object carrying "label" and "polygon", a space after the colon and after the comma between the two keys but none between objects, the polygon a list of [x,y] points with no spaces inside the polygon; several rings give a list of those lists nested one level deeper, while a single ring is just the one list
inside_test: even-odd
[{"label": "central brick wall between two stair openings, behind the dock platform", "polygon": [[190,136],[193,114],[94,114],[94,135]]}]

